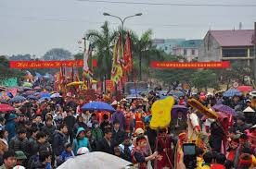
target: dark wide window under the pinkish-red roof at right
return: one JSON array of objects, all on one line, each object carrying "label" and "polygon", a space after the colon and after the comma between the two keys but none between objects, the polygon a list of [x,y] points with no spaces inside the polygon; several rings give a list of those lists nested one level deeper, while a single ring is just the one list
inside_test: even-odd
[{"label": "dark wide window under the pinkish-red roof at right", "polygon": [[224,48],[223,57],[247,57],[247,48]]}]

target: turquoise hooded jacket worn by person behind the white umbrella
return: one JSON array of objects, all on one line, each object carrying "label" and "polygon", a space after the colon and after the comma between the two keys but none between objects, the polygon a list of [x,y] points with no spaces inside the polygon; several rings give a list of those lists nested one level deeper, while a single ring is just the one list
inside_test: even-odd
[{"label": "turquoise hooded jacket worn by person behind the white umbrella", "polygon": [[82,148],[82,147],[86,147],[90,150],[90,145],[89,145],[89,140],[87,138],[83,138],[83,139],[78,139],[78,135],[81,132],[85,132],[83,127],[79,127],[77,129],[77,133],[76,133],[76,139],[74,139],[73,141],[73,152],[75,155],[77,155],[77,151]]}]

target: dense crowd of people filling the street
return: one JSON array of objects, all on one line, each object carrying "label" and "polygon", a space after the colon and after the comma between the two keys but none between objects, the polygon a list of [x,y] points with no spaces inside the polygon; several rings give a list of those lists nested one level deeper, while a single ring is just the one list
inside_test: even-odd
[{"label": "dense crowd of people filling the street", "polygon": [[[210,109],[223,103],[236,112],[226,132],[216,119],[197,113],[198,130],[207,135],[209,147],[197,147],[195,168],[256,167],[256,96],[225,98],[221,93],[190,93],[176,98],[175,104],[188,107],[187,99],[192,97]],[[187,115],[195,111],[178,111],[169,127],[157,131],[149,127],[149,122],[150,107],[158,99],[155,91],[150,91],[144,100],[119,102],[115,97],[108,100],[97,95],[96,101],[110,103],[114,113],[84,111],[83,104],[71,102],[61,94],[43,102],[11,103],[15,111],[0,117],[0,168],[50,169],[91,151],[119,156],[140,169],[186,167],[177,145],[188,141]],[[249,112],[244,111],[249,108]]]}]

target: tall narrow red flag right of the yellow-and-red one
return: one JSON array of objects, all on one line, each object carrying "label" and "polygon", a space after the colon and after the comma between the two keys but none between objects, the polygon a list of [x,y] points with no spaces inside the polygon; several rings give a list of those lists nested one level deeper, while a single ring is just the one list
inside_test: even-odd
[{"label": "tall narrow red flag right of the yellow-and-red one", "polygon": [[124,44],[122,68],[126,72],[131,72],[133,69],[132,45],[131,45],[131,38],[129,33],[127,34],[126,41]]}]

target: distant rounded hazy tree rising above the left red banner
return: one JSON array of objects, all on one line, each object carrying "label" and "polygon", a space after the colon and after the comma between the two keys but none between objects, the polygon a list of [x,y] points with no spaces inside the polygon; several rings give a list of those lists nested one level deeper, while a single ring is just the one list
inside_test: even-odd
[{"label": "distant rounded hazy tree rising above the left red banner", "polygon": [[54,48],[49,50],[43,56],[43,60],[69,60],[72,59],[72,54],[70,51],[61,49],[61,48]]}]

